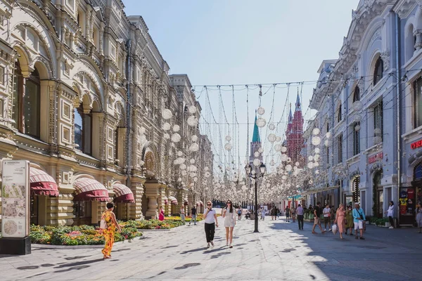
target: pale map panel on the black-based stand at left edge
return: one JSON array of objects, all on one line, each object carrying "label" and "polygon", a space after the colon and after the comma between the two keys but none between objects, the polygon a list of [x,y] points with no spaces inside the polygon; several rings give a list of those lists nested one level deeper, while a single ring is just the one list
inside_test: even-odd
[{"label": "pale map panel on the black-based stand at left edge", "polygon": [[3,160],[1,233],[23,238],[30,234],[30,162]]}]

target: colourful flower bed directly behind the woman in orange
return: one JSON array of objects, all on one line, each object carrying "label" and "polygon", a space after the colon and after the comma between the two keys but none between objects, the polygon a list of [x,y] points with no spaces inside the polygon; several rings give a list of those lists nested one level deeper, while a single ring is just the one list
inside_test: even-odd
[{"label": "colourful flower bed directly behind the woman in orange", "polygon": [[[136,228],[122,226],[122,233],[115,232],[115,242],[142,236]],[[98,245],[105,240],[94,226],[31,226],[31,242],[53,245]]]}]

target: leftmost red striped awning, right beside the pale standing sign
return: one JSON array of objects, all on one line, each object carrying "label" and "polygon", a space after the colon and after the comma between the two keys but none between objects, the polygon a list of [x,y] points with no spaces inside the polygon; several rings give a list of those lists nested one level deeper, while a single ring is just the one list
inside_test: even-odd
[{"label": "leftmost red striped awning, right beside the pale standing sign", "polygon": [[37,168],[30,168],[30,185],[32,195],[49,195],[58,197],[58,186],[54,178]]}]

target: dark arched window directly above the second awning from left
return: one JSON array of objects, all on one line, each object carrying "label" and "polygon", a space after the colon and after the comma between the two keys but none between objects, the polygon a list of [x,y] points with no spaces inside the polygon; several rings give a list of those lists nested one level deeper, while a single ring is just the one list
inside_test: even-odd
[{"label": "dark arched window directly above the second awning from left", "polygon": [[92,112],[84,113],[84,105],[81,103],[75,108],[75,145],[87,155],[92,154],[91,127]]}]

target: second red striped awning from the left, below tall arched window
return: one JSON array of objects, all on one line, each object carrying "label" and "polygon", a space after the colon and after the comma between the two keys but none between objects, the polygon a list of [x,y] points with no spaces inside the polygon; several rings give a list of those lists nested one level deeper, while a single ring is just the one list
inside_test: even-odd
[{"label": "second red striped awning from the left, below tall arched window", "polygon": [[92,178],[78,178],[73,183],[75,201],[110,201],[107,188]]}]

